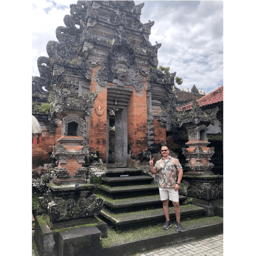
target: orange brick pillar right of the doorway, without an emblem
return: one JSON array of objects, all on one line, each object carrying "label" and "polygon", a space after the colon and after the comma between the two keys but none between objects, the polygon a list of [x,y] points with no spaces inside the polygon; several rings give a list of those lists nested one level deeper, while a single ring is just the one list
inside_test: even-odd
[{"label": "orange brick pillar right of the doorway, without an emblem", "polygon": [[143,90],[139,92],[139,94],[142,93],[141,97],[138,96],[137,91],[133,88],[133,93],[127,105],[128,149],[131,150],[132,155],[135,157],[142,151],[148,150],[145,78],[144,85]]}]

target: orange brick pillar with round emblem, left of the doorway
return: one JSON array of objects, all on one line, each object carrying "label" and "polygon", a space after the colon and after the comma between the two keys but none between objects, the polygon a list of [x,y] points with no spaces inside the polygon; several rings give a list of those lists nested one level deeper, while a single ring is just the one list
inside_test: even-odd
[{"label": "orange brick pillar with round emblem, left of the doorway", "polygon": [[[93,115],[89,117],[89,151],[98,151],[99,158],[106,160],[106,122],[107,122],[107,86],[102,87],[94,81],[97,69],[101,66],[93,68],[91,72],[90,92],[98,90],[98,96],[94,101]],[[98,116],[95,108],[104,109],[104,114]]]}]

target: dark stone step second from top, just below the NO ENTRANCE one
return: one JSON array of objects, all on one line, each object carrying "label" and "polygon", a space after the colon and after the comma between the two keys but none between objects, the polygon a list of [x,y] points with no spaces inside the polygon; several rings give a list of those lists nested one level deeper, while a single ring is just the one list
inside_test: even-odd
[{"label": "dark stone step second from top, just below the NO ENTRANCE one", "polygon": [[151,176],[138,175],[138,176],[128,176],[128,177],[102,177],[102,181],[107,183],[110,186],[116,185],[133,185],[139,183],[141,184],[150,184],[154,180]]}]

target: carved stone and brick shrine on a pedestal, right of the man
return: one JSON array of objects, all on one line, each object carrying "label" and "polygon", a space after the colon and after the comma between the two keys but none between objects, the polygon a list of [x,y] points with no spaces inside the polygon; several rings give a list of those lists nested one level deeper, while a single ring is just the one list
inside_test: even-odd
[{"label": "carved stone and brick shrine on a pedestal, right of the man", "polygon": [[[202,111],[197,101],[193,102],[191,111],[178,115],[180,127],[187,129],[189,141],[188,148],[182,148],[188,164],[188,169],[183,175],[180,193],[194,197],[195,204],[205,205],[207,215],[213,213],[213,205],[222,203],[223,198],[223,177],[215,175],[211,170],[213,164],[209,162],[214,154],[214,147],[207,147],[206,137],[207,126],[216,120],[218,107]],[[211,209],[209,209],[211,208]]]}]

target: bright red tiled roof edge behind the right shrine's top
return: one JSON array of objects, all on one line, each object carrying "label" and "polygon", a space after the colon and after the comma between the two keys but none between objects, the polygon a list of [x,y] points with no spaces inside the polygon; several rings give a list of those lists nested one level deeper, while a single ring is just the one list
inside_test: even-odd
[{"label": "bright red tiled roof edge behind the right shrine's top", "polygon": [[[220,101],[223,101],[223,85],[197,100],[197,102],[199,103],[199,106],[210,105]],[[176,109],[178,111],[190,110],[192,109],[192,105],[193,103],[191,102],[184,106],[180,106],[179,108],[176,108]]]}]

